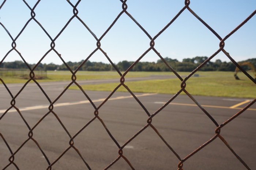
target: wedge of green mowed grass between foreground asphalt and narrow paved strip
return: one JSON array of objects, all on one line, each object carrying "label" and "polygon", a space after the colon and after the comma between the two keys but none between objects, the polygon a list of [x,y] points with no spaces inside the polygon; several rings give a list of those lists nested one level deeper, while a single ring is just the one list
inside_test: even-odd
[{"label": "wedge of green mowed grass between foreground asphalt and narrow paved strip", "polygon": [[[256,84],[242,76],[242,80],[235,80],[233,76],[202,76],[191,77],[186,82],[185,89],[192,95],[255,98]],[[83,85],[84,90],[113,91],[120,83]],[[132,92],[176,94],[181,89],[181,80],[146,80],[139,82],[125,82]],[[79,88],[71,86],[69,89]],[[121,86],[117,91],[127,92]],[[182,92],[181,94],[185,94]]]}]

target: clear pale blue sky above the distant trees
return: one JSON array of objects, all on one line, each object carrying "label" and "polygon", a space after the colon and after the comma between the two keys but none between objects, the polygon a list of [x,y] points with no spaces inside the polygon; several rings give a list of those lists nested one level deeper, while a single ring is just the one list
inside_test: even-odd
[{"label": "clear pale blue sky above the distant trees", "polygon": [[[75,0],[70,0],[75,4]],[[33,8],[36,0],[27,0]],[[3,3],[3,0],[0,0]],[[127,11],[144,29],[154,37],[184,7],[183,0],[128,0]],[[191,0],[189,7],[212,27],[222,38],[236,28],[244,19],[256,10],[255,0]],[[41,0],[35,8],[38,20],[54,39],[73,15],[73,8],[65,0]],[[78,16],[93,33],[100,38],[117,15],[122,11],[119,0],[82,0],[78,5]],[[31,18],[30,10],[22,0],[7,0],[0,9],[0,22],[7,28],[13,38],[21,31]],[[256,15],[240,30],[225,41],[225,50],[236,61],[256,58]],[[64,32],[55,41],[55,49],[66,62],[81,61],[97,48],[95,38],[74,18]],[[34,20],[16,40],[16,49],[27,63],[37,63],[50,49],[50,39]],[[12,48],[12,40],[0,26],[0,61]],[[101,40],[101,48],[114,63],[128,60],[135,61],[149,47],[150,39],[126,15],[123,14],[112,29]],[[188,10],[185,10],[170,27],[155,40],[155,48],[162,57],[182,61],[183,58],[195,56],[210,57],[219,49],[219,39],[211,33]],[[222,52],[212,61],[221,59],[229,61]],[[12,51],[4,60],[21,60]],[[150,51],[141,61],[157,61],[159,57]],[[105,56],[97,51],[90,61],[108,63]],[[62,64],[53,51],[42,63]]]}]

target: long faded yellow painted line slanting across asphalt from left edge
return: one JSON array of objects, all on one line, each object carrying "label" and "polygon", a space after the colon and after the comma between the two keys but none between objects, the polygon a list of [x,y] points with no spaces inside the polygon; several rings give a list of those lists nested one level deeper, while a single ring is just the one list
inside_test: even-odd
[{"label": "long faded yellow painted line slanting across asphalt from left edge", "polygon": [[[156,95],[157,93],[146,93],[146,94],[140,94],[140,95],[135,95],[136,97],[143,97],[143,96],[149,96],[149,95]],[[118,100],[118,99],[126,99],[126,98],[133,98],[132,95],[129,96],[120,96],[120,97],[115,97],[115,98],[109,98],[108,100]],[[93,100],[93,102],[103,102],[105,101],[105,98],[103,99],[97,99]],[[84,104],[84,103],[90,103],[90,101],[79,101],[79,102],[69,102],[69,103],[56,103],[53,105],[53,107],[60,107],[60,106],[70,106],[70,105],[79,105],[79,104]],[[44,109],[48,108],[49,106],[31,106],[31,107],[23,107],[20,108],[20,111],[26,111],[26,110],[35,110],[35,109]],[[6,110],[0,110],[0,113],[4,113]],[[16,109],[11,109],[8,111],[9,112],[16,112]]]}]

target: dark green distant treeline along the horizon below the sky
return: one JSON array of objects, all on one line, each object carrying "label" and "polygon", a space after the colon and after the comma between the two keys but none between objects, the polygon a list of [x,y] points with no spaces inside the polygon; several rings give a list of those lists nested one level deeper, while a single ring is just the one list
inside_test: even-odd
[{"label": "dark green distant treeline along the horizon below the sky", "polygon": [[[195,68],[197,68],[201,63],[203,63],[208,57],[194,57],[194,58],[184,58],[182,62],[172,59],[172,58],[164,58],[165,61],[175,70],[175,71],[193,71]],[[248,60],[244,60],[251,62],[252,65],[256,66],[256,58],[251,58]],[[241,62],[244,62],[241,61]],[[67,62],[68,66],[75,70],[78,68],[78,66],[82,63],[80,62]],[[120,71],[127,70],[134,61],[121,61],[116,64],[116,67]],[[34,67],[35,64],[29,64],[31,68]],[[251,68],[247,66],[243,66],[244,69],[249,70]],[[0,68],[5,69],[27,69],[27,66],[23,61],[13,61],[13,62],[3,62],[0,64]],[[232,62],[222,62],[221,60],[216,60],[214,62],[209,61],[206,65],[204,65],[202,68],[200,68],[200,71],[234,71],[236,66]],[[57,64],[42,64],[40,63],[36,70],[68,70],[67,67]],[[91,62],[87,61],[80,70],[84,71],[112,71],[114,70],[113,66],[111,64],[106,64],[102,62]],[[139,62],[137,63],[131,71],[169,71],[170,69],[166,66],[165,63],[163,63],[162,60],[158,60],[155,62]]]}]

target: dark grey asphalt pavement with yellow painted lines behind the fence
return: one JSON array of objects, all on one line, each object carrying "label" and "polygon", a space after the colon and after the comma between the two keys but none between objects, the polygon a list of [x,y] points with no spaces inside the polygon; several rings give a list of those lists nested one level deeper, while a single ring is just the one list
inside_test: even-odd
[{"label": "dark grey asphalt pavement with yellow painted lines behind the fence", "polygon": [[[98,82],[97,82],[98,81]],[[118,82],[119,80],[80,81],[79,84]],[[129,81],[127,79],[126,81]],[[132,81],[132,80],[131,80]],[[54,101],[69,82],[40,83],[49,99]],[[8,84],[15,96],[22,84]],[[11,106],[11,96],[0,85],[0,116]],[[109,96],[110,92],[86,91],[95,107]],[[74,147],[91,169],[101,170],[118,158],[118,145],[123,146],[131,137],[147,125],[148,115],[154,114],[173,95],[142,94],[136,96],[143,107],[128,92],[116,92],[98,109],[95,108],[79,90],[67,90],[55,103],[53,113],[49,112],[49,101],[35,83],[29,83],[16,97],[15,106],[20,110],[30,128],[33,139],[37,141],[50,163],[58,159],[69,148],[70,136],[75,136]],[[197,102],[220,125],[234,116],[252,99],[194,96]],[[57,119],[59,118],[59,120]],[[93,120],[91,123],[89,123]],[[64,125],[61,126],[61,123]],[[184,159],[215,135],[214,122],[187,95],[179,95],[169,105],[153,117],[151,123],[177,155]],[[104,128],[106,126],[117,141],[116,144]],[[29,128],[15,109],[9,110],[0,120],[0,132],[12,152],[29,139]],[[256,104],[225,125],[221,136],[232,149],[251,168],[256,169]],[[7,145],[0,138],[0,169],[4,169],[11,156]],[[161,140],[151,126],[147,126],[138,136],[123,148],[123,156],[136,170],[177,170],[180,160]],[[14,163],[20,170],[46,170],[48,162],[33,140],[28,140],[14,155]],[[187,159],[184,170],[246,170],[229,148],[218,137],[202,150]],[[70,148],[52,165],[52,170],[88,169],[75,149]],[[111,170],[131,170],[120,158]],[[7,170],[16,170],[14,165]]]}]

